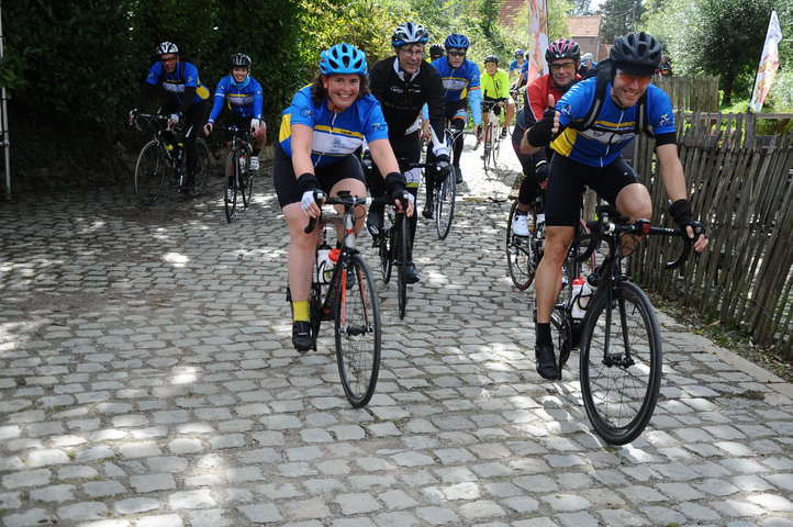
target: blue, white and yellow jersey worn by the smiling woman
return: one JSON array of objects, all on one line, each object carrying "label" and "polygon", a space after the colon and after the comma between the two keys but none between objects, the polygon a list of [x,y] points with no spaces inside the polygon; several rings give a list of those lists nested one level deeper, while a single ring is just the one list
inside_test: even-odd
[{"label": "blue, white and yellow jersey worn by the smiling woman", "polygon": [[281,148],[292,157],[292,124],[304,124],[314,130],[311,161],[315,167],[333,165],[353,154],[364,144],[388,139],[388,124],[382,109],[371,94],[359,97],[345,111],[338,113],[328,108],[323,99],[320,108],[311,100],[311,86],[298,91],[292,104],[281,113],[281,131],[278,138]]}]

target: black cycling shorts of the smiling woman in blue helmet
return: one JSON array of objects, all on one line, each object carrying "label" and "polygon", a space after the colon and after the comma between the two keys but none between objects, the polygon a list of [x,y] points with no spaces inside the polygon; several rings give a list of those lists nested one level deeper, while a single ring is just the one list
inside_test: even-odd
[{"label": "black cycling shorts of the smiling woman in blue helmet", "polygon": [[[276,146],[276,165],[272,172],[280,208],[283,209],[290,203],[300,202],[303,193],[300,192],[300,188],[298,187],[292,158],[287,156],[281,145]],[[334,162],[333,165],[315,167],[314,175],[316,179],[320,180],[322,190],[328,195],[331,194],[331,189],[343,179],[357,179],[366,184],[364,168],[360,166],[360,160],[354,154],[340,157],[338,162]]]}]

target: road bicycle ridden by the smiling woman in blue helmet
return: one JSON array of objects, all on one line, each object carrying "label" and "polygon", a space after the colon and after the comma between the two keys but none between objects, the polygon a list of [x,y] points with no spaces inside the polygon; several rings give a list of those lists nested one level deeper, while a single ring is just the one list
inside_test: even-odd
[{"label": "road bicycle ridden by the smiling woman in blue helmet", "polygon": [[[339,191],[336,197],[325,197],[323,192],[315,191],[314,197],[317,203],[324,198],[327,205],[342,205],[344,213],[322,214],[319,221],[321,231],[316,256],[320,261],[309,296],[311,346],[316,351],[322,321],[335,321],[336,363],[342,386],[349,403],[360,408],[375,394],[380,372],[380,303],[369,266],[355,246],[356,210],[370,205],[371,198],[358,198],[348,191]],[[316,223],[316,218],[311,218],[305,232],[312,232]],[[343,227],[340,247],[330,255],[331,260],[336,258],[332,270],[327,269],[327,260],[320,258],[327,247],[328,224],[340,224]],[[287,300],[291,305],[289,289]]]}]

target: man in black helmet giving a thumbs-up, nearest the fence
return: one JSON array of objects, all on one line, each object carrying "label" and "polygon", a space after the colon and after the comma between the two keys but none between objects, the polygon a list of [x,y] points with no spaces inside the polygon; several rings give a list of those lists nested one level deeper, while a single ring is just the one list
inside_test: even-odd
[{"label": "man in black helmet giving a thumbs-up, nearest the fence", "polygon": [[[594,101],[595,77],[578,82],[558,102],[548,96],[549,108],[523,137],[521,149],[525,154],[536,153],[548,143],[555,152],[545,193],[545,253],[535,280],[535,356],[537,372],[545,379],[559,378],[550,315],[559,295],[561,267],[579,217],[584,186],[632,221],[652,215],[647,188],[619,154],[636,136],[637,102],[645,94],[658,165],[672,201],[669,213],[690,238],[694,238],[694,228],[699,227],[693,220],[683,166],[678,158],[672,104],[661,89],[649,83],[660,59],[661,46],[650,35],[641,32],[617,37],[611,49],[612,81],[594,124],[582,126],[584,130],[576,127],[577,120],[583,120]],[[706,246],[707,237],[699,234],[694,249],[700,253]]]}]

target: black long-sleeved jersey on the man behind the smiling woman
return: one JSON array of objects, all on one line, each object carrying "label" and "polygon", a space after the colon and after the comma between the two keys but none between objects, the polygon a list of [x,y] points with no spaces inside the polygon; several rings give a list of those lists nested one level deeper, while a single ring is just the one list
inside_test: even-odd
[{"label": "black long-sleeved jersey on the man behind the smiling woman", "polygon": [[443,144],[446,123],[440,74],[427,64],[422,64],[412,76],[398,69],[399,59],[393,56],[380,60],[369,70],[371,93],[382,105],[389,138],[401,137],[418,130],[417,119],[426,103],[429,109],[429,125]]}]

